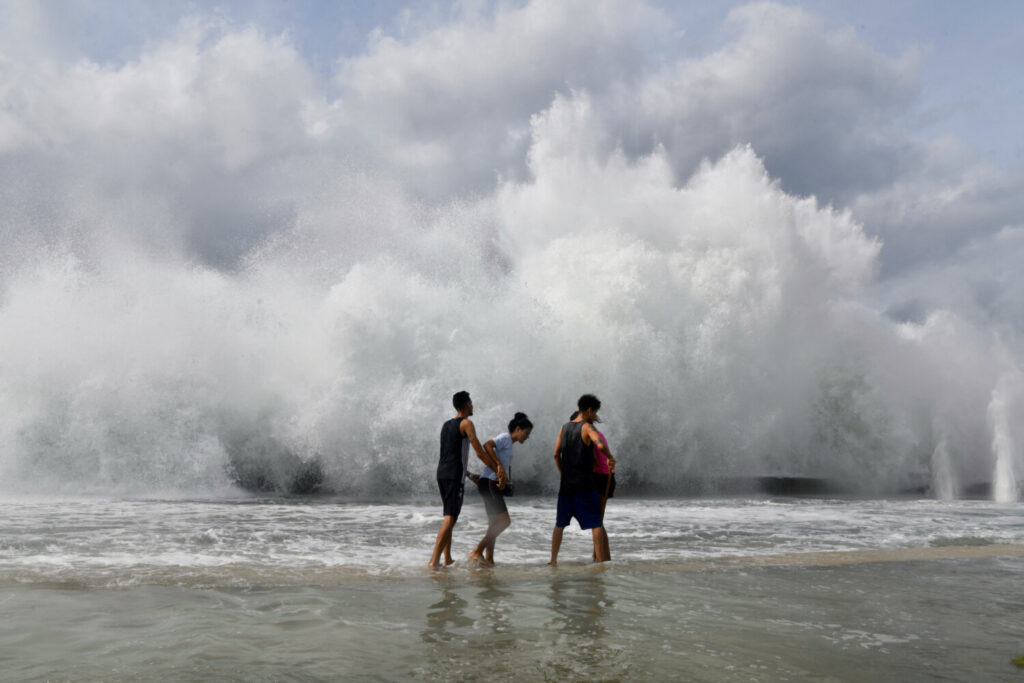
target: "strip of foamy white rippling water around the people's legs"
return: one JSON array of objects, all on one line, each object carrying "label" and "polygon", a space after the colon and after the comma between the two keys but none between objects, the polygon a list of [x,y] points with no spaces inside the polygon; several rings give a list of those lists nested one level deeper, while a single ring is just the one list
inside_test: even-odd
[{"label": "strip of foamy white rippling water around the people's legs", "polygon": [[[554,501],[517,499],[511,513],[496,571],[512,579],[548,570]],[[121,588],[401,579],[424,571],[439,517],[425,502],[4,501],[0,582]],[[470,501],[456,529],[457,557],[484,522]],[[613,566],[628,571],[1024,554],[1024,507],[968,501],[613,500],[607,527]],[[559,570],[589,570],[589,544],[570,527]]]}]

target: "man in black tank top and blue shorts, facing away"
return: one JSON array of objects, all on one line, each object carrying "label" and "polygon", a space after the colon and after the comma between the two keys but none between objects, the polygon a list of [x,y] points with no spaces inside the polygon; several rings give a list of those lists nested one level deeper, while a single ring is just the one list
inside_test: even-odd
[{"label": "man in black tank top and blue shorts, facing away", "polygon": [[594,487],[594,449],[600,449],[608,458],[608,466],[615,466],[607,445],[601,441],[591,423],[600,422],[597,412],[601,401],[593,394],[580,396],[577,405],[580,416],[574,422],[562,425],[555,442],[555,465],[561,473],[558,486],[558,512],[555,529],[551,535],[551,562],[558,564],[558,549],[562,545],[562,531],[575,517],[580,528],[592,529],[594,558],[598,562],[611,559],[608,535],[601,520],[601,498]]}]

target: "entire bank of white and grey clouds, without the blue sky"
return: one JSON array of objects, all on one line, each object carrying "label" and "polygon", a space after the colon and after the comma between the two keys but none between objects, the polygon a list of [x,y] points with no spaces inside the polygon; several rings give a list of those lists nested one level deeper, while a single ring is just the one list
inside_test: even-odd
[{"label": "entire bank of white and grey clouds, without the blue sky", "polygon": [[[370,170],[434,202],[485,193],[501,176],[524,177],[530,117],[577,91],[600,118],[606,154],[635,159],[660,145],[679,182],[702,159],[752,144],[785,189],[849,207],[881,237],[886,274],[941,259],[1022,208],[1020,178],[905,128],[920,54],[883,55],[806,10],[739,7],[721,48],[664,65],[675,27],[636,3],[500,5],[431,20],[399,37],[379,32],[333,83],[286,38],[208,19],[118,65],[13,53],[0,62],[4,175],[53,187],[28,199],[47,207],[69,184],[94,197],[117,184],[122,197],[104,204],[137,194],[196,214],[162,237],[128,229],[230,265],[289,227],[299,187],[323,182],[297,167]],[[39,34],[47,20],[28,25]],[[104,176],[108,187],[95,186]]]}]

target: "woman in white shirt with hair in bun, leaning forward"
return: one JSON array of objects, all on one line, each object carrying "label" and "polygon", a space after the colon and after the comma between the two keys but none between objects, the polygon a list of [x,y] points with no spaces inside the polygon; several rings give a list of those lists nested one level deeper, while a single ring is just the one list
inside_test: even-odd
[{"label": "woman in white shirt with hair in bun, leaning forward", "polygon": [[476,482],[476,487],[483,498],[483,507],[487,510],[487,532],[469,554],[469,559],[473,561],[488,565],[495,563],[495,540],[512,523],[508,506],[505,505],[505,497],[512,495],[512,483],[508,475],[512,466],[512,444],[525,442],[532,429],[534,423],[526,414],[516,413],[509,422],[507,432],[483,444],[483,451],[487,454],[484,460],[487,467]]}]

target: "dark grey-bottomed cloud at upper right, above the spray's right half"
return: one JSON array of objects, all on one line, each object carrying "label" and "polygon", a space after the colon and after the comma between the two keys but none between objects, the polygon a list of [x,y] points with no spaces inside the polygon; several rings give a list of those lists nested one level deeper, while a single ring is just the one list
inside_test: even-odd
[{"label": "dark grey-bottomed cloud at upper right, above the spray's right half", "polygon": [[916,94],[918,55],[887,57],[850,29],[774,3],[737,8],[728,23],[733,40],[671,65],[639,92],[646,134],[683,174],[749,142],[787,189],[835,201],[912,164],[896,119]]}]

